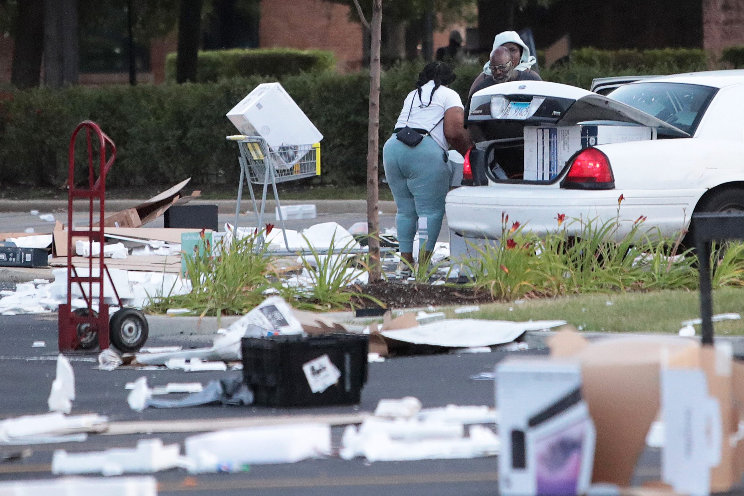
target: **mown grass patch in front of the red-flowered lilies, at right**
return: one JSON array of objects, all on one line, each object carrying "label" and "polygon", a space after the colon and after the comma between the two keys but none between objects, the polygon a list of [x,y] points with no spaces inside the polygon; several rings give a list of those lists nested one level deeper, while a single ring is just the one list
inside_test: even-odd
[{"label": "mown grass patch in front of the red-flowered lilies, at right", "polygon": [[[612,302],[612,305],[607,305]],[[510,309],[512,309],[510,311]],[[744,288],[713,291],[713,313],[744,314]],[[525,300],[524,303],[481,305],[481,311],[447,317],[498,320],[565,320],[591,332],[675,333],[682,320],[700,317],[697,291],[665,290],[655,293],[612,293]],[[744,321],[714,322],[716,334],[744,334]],[[700,334],[700,326],[696,325]]]}]

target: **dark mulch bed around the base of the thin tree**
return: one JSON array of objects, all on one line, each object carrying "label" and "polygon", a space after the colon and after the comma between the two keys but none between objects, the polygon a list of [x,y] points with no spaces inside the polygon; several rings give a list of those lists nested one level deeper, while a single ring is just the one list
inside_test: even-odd
[{"label": "dark mulch bed around the base of the thin tree", "polygon": [[[476,305],[491,303],[493,298],[485,291],[476,293],[472,287],[464,285],[416,284],[414,282],[379,281],[357,286],[359,293],[379,299],[387,308],[422,308],[444,305]],[[370,299],[356,298],[357,308],[379,308]]]}]

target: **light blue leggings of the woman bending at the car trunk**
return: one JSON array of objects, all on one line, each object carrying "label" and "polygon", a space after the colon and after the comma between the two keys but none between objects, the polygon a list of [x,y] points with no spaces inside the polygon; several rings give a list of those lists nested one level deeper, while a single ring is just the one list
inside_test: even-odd
[{"label": "light blue leggings of the woman bending at the car trunk", "polygon": [[398,208],[395,223],[400,252],[413,252],[419,217],[426,217],[429,231],[426,250],[433,251],[442,229],[444,199],[452,181],[442,148],[431,136],[425,136],[416,147],[409,147],[392,136],[382,148],[382,163]]}]

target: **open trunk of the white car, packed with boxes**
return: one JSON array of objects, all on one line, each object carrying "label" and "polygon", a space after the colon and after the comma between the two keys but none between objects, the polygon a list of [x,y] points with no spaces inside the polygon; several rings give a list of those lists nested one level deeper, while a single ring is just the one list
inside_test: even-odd
[{"label": "open trunk of the white car, packed with boxes", "polygon": [[597,144],[690,135],[632,106],[574,86],[513,81],[472,96],[468,127],[475,185],[550,184],[580,150]]}]

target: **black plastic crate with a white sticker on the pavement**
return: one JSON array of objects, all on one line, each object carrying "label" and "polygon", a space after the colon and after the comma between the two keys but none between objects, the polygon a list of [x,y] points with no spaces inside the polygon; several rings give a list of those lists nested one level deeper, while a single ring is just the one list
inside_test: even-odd
[{"label": "black plastic crate with a white sticker on the pavement", "polygon": [[[368,349],[368,336],[359,334],[243,337],[243,381],[253,391],[254,404],[359,404],[367,383]],[[303,366],[325,354],[341,377],[323,392],[312,392]]]}]

